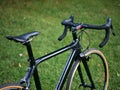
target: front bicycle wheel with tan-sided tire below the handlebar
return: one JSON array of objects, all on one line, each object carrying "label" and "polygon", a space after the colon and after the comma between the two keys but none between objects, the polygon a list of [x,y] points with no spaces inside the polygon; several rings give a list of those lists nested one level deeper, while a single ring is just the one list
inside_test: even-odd
[{"label": "front bicycle wheel with tan-sided tire below the handlebar", "polygon": [[[103,53],[97,49],[89,49],[82,53],[89,67],[94,87],[84,69],[82,61],[76,60],[68,77],[67,90],[107,90],[108,89],[108,64]],[[81,72],[80,72],[81,71]],[[82,73],[83,80],[81,80],[80,73]],[[82,83],[82,84],[81,84]]]}]

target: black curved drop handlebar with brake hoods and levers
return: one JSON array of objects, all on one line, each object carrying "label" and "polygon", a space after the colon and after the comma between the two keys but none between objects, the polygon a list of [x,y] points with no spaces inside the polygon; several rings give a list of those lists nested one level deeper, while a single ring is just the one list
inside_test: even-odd
[{"label": "black curved drop handlebar with brake hoods and levers", "polygon": [[110,29],[112,31],[112,34],[115,36],[115,33],[113,31],[112,26],[112,19],[108,18],[106,23],[103,25],[90,25],[90,24],[80,24],[80,23],[73,23],[74,17],[70,16],[69,19],[63,20],[61,22],[62,25],[65,26],[63,34],[58,38],[59,41],[61,41],[66,35],[68,29],[71,30],[80,30],[82,28],[84,29],[95,29],[95,30],[105,30],[105,37],[103,41],[99,44],[99,47],[103,47],[109,40],[110,36]]}]

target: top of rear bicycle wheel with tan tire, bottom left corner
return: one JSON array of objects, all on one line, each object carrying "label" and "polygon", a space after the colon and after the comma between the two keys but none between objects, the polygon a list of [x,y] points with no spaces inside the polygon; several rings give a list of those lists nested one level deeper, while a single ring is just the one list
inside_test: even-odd
[{"label": "top of rear bicycle wheel with tan tire, bottom left corner", "polygon": [[0,86],[0,90],[25,90],[25,88],[20,84],[11,83]]}]

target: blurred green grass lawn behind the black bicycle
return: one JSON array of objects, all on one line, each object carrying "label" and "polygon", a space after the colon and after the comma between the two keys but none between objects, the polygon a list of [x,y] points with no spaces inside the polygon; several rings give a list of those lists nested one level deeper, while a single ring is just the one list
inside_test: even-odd
[{"label": "blurred green grass lawn behind the black bicycle", "polygon": [[[90,47],[99,48],[108,60],[109,90],[120,90],[120,0],[0,0],[0,85],[19,82],[28,66],[25,47],[5,36],[39,31],[40,35],[32,41],[37,58],[71,42],[70,32],[63,41],[57,40],[63,32],[61,21],[70,15],[74,15],[76,22],[98,25],[112,18],[116,36],[111,34],[104,48],[98,47],[104,31],[88,32]],[[66,52],[38,66],[43,90],[55,88],[68,55]]]}]

